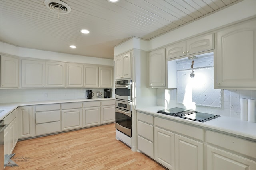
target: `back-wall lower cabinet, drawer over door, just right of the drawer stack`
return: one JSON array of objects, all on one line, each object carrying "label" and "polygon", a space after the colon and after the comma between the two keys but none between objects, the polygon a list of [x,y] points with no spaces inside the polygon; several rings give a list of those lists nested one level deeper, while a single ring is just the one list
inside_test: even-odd
[{"label": "back-wall lower cabinet, drawer over door, just right of the drawer stack", "polygon": [[74,102],[61,104],[62,107],[62,131],[78,129],[82,127],[82,103]]}]

